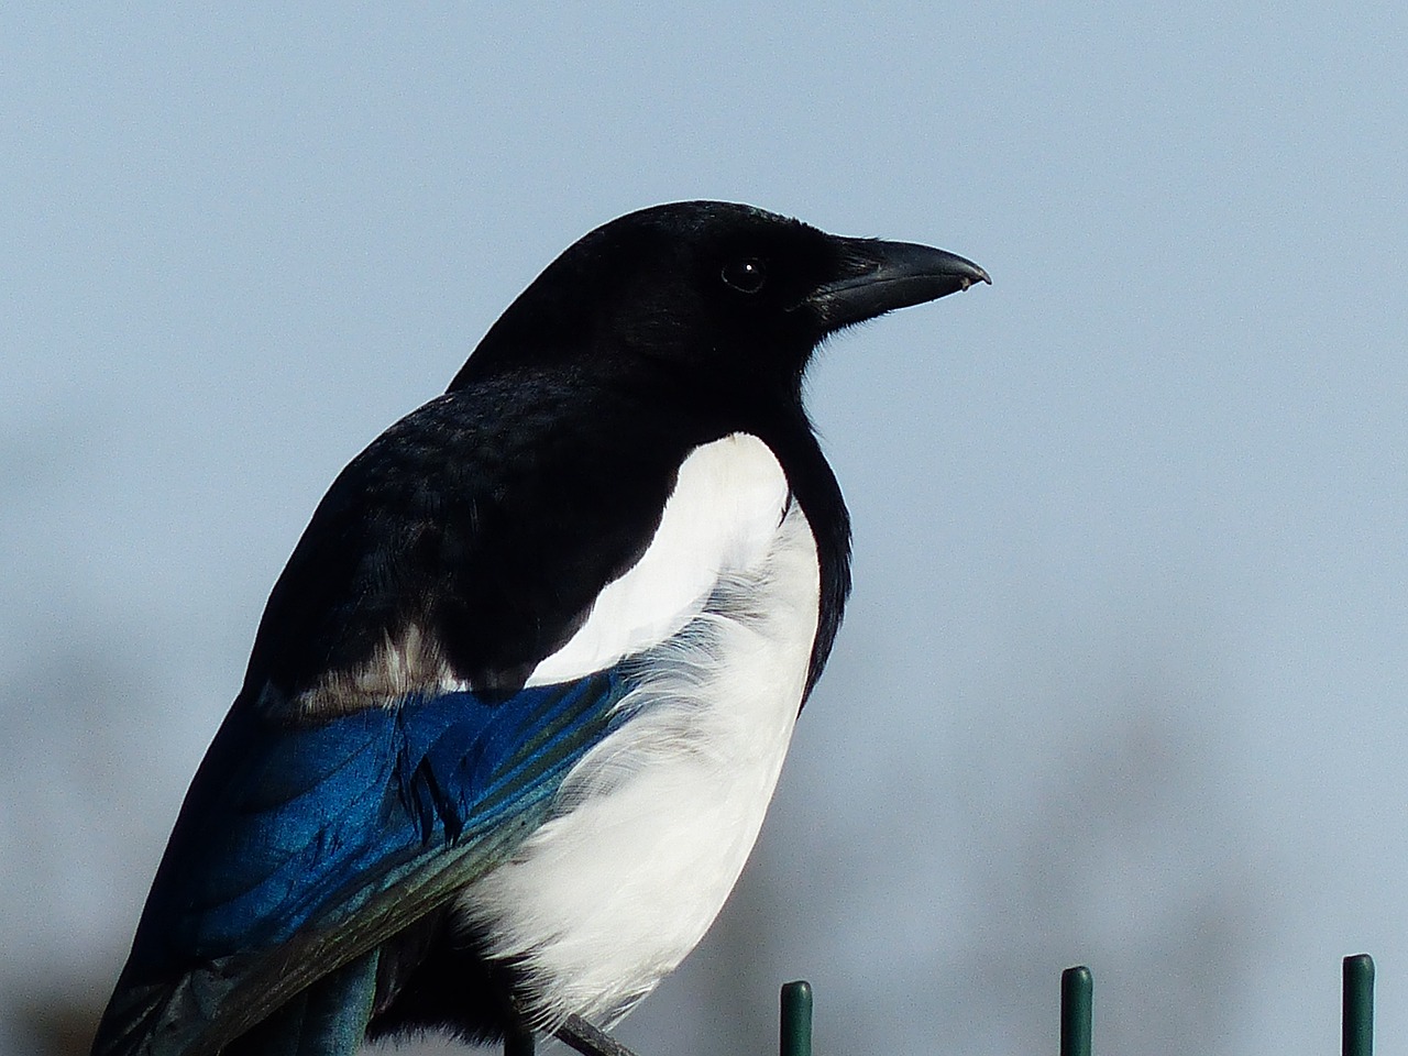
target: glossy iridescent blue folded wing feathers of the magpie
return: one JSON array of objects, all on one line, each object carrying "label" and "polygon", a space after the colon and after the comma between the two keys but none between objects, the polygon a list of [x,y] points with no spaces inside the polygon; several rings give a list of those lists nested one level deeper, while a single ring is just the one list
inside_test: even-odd
[{"label": "glossy iridescent blue folded wing feathers of the magpie", "polygon": [[542,822],[627,689],[604,672],[314,724],[237,707],[191,786],[94,1052],[215,1052],[444,904]]}]

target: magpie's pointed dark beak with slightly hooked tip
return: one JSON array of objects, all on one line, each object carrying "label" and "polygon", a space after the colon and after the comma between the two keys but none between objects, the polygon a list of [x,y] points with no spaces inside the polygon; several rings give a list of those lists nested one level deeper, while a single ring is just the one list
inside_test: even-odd
[{"label": "magpie's pointed dark beak with slightly hooked tip", "polygon": [[993,282],[972,260],[943,249],[870,238],[838,241],[843,253],[841,277],[812,290],[805,300],[828,331]]}]

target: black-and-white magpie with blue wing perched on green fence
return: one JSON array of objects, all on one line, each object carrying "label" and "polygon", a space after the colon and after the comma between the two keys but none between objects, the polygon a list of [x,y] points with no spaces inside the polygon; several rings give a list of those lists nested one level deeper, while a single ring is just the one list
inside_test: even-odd
[{"label": "black-and-white magpie with blue wing perched on green fence", "polygon": [[567,248],[313,513],[93,1056],[612,1028],[725,903],[841,625],[808,363],[986,282],[724,201]]}]

